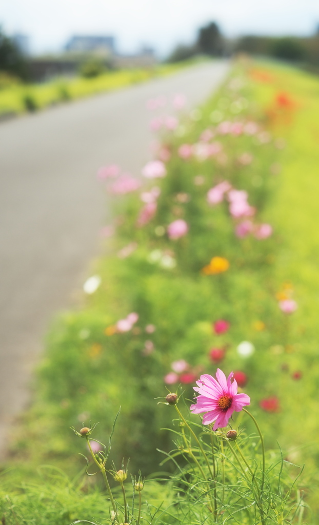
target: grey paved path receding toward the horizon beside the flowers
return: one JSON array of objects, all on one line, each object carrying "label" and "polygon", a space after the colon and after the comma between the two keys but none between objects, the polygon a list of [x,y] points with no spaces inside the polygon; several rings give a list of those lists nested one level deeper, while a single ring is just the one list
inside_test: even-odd
[{"label": "grey paved path receding toward the horizon beside the flowers", "polygon": [[0,125],[0,457],[47,324],[99,253],[107,212],[98,167],[118,162],[139,174],[151,158],[146,100],[183,92],[195,106],[228,67],[198,65]]}]

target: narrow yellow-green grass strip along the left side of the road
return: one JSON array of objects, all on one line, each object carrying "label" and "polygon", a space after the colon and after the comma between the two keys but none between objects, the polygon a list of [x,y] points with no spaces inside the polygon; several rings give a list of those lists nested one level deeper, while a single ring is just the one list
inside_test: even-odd
[{"label": "narrow yellow-green grass strip along the left side of the road", "polygon": [[44,84],[13,85],[0,90],[0,115],[37,111],[61,102],[116,90],[151,78],[170,75],[187,64],[163,64],[148,69],[108,71],[95,78],[59,78]]}]

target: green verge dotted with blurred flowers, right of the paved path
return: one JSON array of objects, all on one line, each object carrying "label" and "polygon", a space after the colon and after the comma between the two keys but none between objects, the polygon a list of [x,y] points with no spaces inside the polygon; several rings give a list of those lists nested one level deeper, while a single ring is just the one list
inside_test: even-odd
[{"label": "green verge dotted with blurred flowers, right of the paved path", "polygon": [[[3,471],[6,525],[128,518],[125,508],[121,518],[106,516],[99,483],[79,474],[85,440],[69,429],[99,422],[94,438],[106,443],[120,405],[109,460],[119,468],[130,457],[129,472],[147,476],[153,509],[164,500],[157,517],[143,515],[149,523],[316,523],[318,90],[304,72],[244,61],[190,114],[181,95],[171,101],[178,118],[169,106],[163,116],[167,101],[147,102],[156,160],[144,167],[142,186],[120,166],[98,173],[114,203],[107,255],[92,264],[80,308],[61,314],[48,334],[34,402]],[[233,371],[239,393],[250,396],[268,470],[254,421],[234,412],[230,423],[243,432],[236,443],[255,458],[255,474],[249,482],[233,466],[231,438],[220,434],[210,445],[219,474],[202,490],[210,474],[201,446],[210,454],[202,443],[211,427],[203,430],[189,406],[195,381],[217,367]],[[168,390],[184,391],[173,423],[173,408],[155,401]],[[160,467],[157,449],[172,448]],[[236,484],[244,493],[230,490]],[[293,510],[283,510],[288,504]],[[138,523],[136,513],[130,522]]]}]

